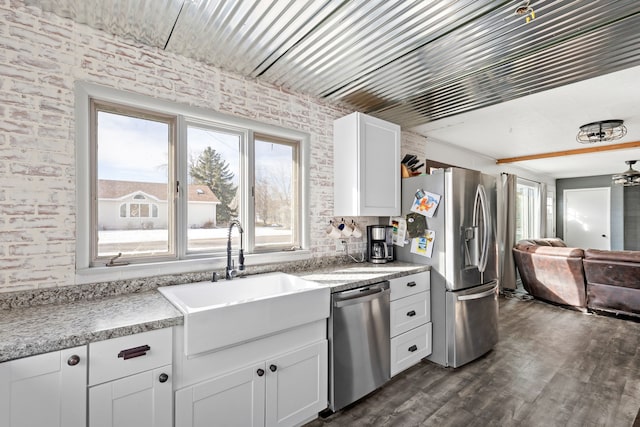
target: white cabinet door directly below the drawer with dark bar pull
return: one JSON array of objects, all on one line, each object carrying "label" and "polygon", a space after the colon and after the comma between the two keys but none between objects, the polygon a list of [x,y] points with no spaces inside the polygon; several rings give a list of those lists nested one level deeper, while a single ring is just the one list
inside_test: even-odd
[{"label": "white cabinet door directly below the drawer with dark bar pull", "polygon": [[171,365],[89,388],[90,427],[171,427]]}]

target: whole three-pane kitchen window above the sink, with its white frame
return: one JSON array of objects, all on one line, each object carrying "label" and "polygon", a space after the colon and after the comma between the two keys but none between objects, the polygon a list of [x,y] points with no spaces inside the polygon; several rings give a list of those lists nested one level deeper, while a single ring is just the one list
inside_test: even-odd
[{"label": "whole three-pane kitchen window above the sink, with its white frame", "polygon": [[[232,219],[247,264],[309,256],[307,134],[90,84],[78,92],[81,275],[108,276],[114,257],[127,271],[221,268]],[[234,228],[234,256],[239,245]]]}]

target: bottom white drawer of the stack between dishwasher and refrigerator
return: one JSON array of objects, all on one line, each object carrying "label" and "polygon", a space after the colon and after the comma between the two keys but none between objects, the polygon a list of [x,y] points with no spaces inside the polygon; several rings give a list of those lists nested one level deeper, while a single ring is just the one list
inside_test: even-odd
[{"label": "bottom white drawer of the stack between dishwasher and refrigerator", "polygon": [[431,354],[431,322],[391,339],[391,376]]}]

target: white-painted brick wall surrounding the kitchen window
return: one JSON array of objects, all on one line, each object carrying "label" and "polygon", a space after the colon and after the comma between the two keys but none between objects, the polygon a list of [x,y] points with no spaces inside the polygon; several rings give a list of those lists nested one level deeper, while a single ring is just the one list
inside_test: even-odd
[{"label": "white-painted brick wall surrounding the kitchen window", "polygon": [[0,76],[0,292],[74,284],[77,80],[309,132],[311,250],[335,255],[324,235],[333,208],[332,124],[349,111],[129,44],[21,0],[0,0]]}]

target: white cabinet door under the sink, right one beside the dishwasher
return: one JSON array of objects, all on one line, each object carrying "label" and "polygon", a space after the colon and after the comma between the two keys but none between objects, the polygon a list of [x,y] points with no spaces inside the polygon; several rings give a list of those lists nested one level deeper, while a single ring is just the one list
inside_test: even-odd
[{"label": "white cabinet door under the sink, right one beside the dishwasher", "polygon": [[267,426],[299,425],[327,407],[327,341],[267,362]]}]

